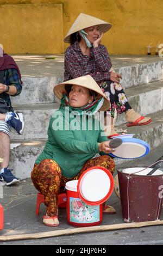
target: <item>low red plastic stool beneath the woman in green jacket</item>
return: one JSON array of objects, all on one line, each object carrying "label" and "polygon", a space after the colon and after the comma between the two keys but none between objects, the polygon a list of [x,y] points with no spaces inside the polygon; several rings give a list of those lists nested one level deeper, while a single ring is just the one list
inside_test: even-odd
[{"label": "low red plastic stool beneath the woman in green jacket", "polygon": [[[66,208],[66,193],[62,193],[58,195],[58,207],[59,208]],[[37,201],[36,201],[36,215],[39,215],[40,212],[40,204],[45,203],[43,194],[37,193]]]}]

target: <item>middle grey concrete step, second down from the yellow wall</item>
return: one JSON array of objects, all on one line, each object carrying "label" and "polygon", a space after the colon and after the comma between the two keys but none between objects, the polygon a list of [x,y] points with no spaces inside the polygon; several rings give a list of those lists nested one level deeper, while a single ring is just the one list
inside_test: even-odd
[{"label": "middle grey concrete step, second down from the yellow wall", "polygon": [[[130,105],[137,113],[147,115],[163,109],[163,81],[127,88],[126,94]],[[15,111],[24,114],[26,123],[21,139],[46,139],[49,119],[58,108],[59,103],[15,105]],[[125,114],[118,114],[115,126],[124,123],[126,123]],[[20,139],[20,136],[12,130],[11,138]]]}]

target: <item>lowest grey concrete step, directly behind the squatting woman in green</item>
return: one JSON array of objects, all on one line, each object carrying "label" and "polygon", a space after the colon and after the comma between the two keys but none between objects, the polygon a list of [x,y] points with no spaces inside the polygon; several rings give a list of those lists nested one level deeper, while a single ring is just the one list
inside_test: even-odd
[{"label": "lowest grey concrete step, directly behind the squatting woman in green", "polygon": [[[158,147],[163,142],[163,111],[151,115],[153,122],[144,126],[134,126],[128,128],[128,133],[135,133],[136,138],[143,139],[151,146],[151,150]],[[126,129],[126,126],[121,126]],[[18,178],[26,179],[30,177],[36,157],[41,153],[45,141],[16,140],[12,143],[21,143],[17,148],[11,150],[10,167]],[[126,163],[129,160],[116,159],[117,164]]]}]

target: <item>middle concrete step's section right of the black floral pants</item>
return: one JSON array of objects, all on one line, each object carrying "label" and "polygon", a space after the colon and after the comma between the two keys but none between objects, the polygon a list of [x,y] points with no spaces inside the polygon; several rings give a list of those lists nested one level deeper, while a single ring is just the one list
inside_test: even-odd
[{"label": "middle concrete step's section right of the black floral pants", "polygon": [[[130,106],[141,115],[163,109],[163,81],[143,84],[125,90]],[[117,114],[115,126],[126,123],[125,114]]]}]

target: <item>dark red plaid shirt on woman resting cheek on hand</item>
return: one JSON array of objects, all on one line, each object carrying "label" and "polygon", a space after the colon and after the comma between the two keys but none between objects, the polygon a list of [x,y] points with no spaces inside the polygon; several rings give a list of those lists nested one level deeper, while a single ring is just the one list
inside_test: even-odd
[{"label": "dark red plaid shirt on woman resting cheek on hand", "polygon": [[64,81],[91,75],[98,84],[110,80],[111,60],[104,45],[90,48],[90,56],[84,55],[78,41],[66,49]]}]

